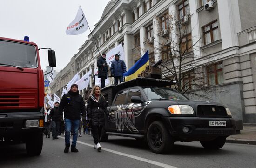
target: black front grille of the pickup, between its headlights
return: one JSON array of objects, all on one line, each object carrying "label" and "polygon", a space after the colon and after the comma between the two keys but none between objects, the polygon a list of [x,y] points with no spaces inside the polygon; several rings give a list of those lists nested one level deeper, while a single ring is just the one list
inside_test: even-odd
[{"label": "black front grille of the pickup, between its headlights", "polygon": [[198,105],[197,116],[199,117],[223,117],[227,116],[226,109],[223,106],[216,105]]}]

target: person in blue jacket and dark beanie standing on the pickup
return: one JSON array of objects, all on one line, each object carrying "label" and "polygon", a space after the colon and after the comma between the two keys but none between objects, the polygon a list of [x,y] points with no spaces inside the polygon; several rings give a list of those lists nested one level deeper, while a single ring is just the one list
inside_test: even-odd
[{"label": "person in blue jacket and dark beanie standing on the pickup", "polygon": [[123,60],[119,59],[119,55],[115,54],[115,61],[112,62],[111,67],[111,76],[114,76],[115,84],[118,84],[118,80],[123,82],[123,73],[126,72],[126,65]]}]

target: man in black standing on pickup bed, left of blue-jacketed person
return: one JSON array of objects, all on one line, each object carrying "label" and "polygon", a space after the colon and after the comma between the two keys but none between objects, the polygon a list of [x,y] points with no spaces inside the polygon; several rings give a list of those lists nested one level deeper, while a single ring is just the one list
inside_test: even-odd
[{"label": "man in black standing on pickup bed, left of blue-jacketed person", "polygon": [[106,54],[102,54],[101,58],[97,61],[98,78],[101,78],[101,88],[105,86],[105,80],[108,76],[108,64],[106,62]]}]

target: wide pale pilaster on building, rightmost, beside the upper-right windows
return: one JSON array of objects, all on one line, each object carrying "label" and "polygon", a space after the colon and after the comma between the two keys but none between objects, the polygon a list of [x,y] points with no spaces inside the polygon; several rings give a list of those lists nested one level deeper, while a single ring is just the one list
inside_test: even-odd
[{"label": "wide pale pilaster on building, rightmost, beside the upper-right windows", "polygon": [[222,49],[239,46],[237,33],[241,32],[238,0],[218,0]]}]

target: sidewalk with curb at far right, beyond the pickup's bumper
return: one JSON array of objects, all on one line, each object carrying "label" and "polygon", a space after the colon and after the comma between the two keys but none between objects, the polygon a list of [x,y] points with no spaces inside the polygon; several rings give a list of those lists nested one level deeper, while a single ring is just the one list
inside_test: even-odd
[{"label": "sidewalk with curb at far right, beyond the pickup's bumper", "polygon": [[241,134],[229,136],[226,142],[256,145],[256,124],[243,124]]}]

